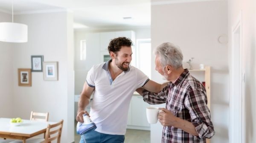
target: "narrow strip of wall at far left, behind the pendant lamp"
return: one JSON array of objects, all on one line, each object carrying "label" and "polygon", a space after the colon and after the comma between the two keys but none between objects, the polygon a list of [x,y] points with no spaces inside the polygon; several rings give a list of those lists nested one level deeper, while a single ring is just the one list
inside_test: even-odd
[{"label": "narrow strip of wall at far left, behind the pendant lamp", "polygon": [[[0,22],[11,22],[12,15],[0,12]],[[0,117],[12,117],[13,58],[12,44],[0,42]],[[7,108],[6,108],[7,107]]]}]

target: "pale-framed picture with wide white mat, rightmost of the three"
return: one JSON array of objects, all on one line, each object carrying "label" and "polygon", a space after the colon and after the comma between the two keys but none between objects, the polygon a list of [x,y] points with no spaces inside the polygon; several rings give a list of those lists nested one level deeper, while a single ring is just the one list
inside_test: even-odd
[{"label": "pale-framed picture with wide white mat, rightmost of the three", "polygon": [[58,62],[43,62],[45,81],[58,81]]}]

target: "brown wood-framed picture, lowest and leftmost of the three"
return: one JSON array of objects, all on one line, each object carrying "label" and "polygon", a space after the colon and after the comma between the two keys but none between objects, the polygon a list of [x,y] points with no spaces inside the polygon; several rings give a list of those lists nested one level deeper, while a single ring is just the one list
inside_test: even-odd
[{"label": "brown wood-framed picture, lowest and leftmost of the three", "polygon": [[31,87],[31,69],[19,68],[18,69],[19,86]]}]

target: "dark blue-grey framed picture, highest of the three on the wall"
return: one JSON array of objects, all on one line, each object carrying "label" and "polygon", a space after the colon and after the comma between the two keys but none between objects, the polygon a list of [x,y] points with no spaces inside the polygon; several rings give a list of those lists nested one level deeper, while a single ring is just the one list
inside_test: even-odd
[{"label": "dark blue-grey framed picture, highest of the three on the wall", "polygon": [[31,56],[31,68],[32,72],[42,72],[43,71],[44,56]]}]

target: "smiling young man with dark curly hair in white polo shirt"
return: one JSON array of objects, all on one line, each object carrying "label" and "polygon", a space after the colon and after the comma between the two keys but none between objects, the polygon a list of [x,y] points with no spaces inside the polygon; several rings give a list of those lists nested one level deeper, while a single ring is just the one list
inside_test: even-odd
[{"label": "smiling young man with dark curly hair in white polo shirt", "polygon": [[112,39],[108,45],[111,60],[94,65],[87,73],[79,99],[76,120],[83,122],[84,108],[94,91],[90,118],[96,130],[81,136],[80,143],[123,143],[128,108],[137,88],[160,92],[166,84],[157,84],[136,67],[130,66],[132,42],[125,37]]}]

